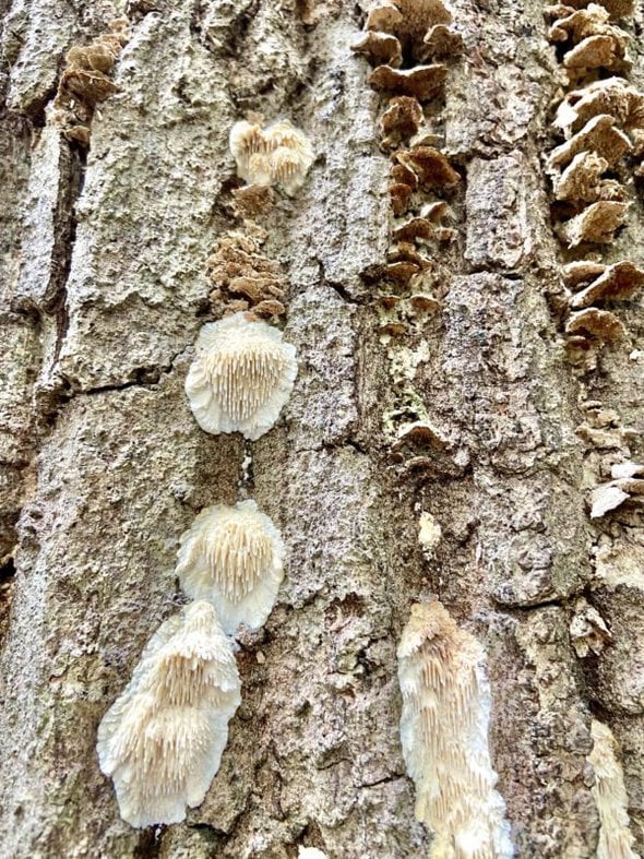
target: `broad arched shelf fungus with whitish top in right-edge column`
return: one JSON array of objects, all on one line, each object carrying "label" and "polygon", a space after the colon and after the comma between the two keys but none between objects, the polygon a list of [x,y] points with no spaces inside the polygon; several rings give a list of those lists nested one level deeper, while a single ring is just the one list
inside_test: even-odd
[{"label": "broad arched shelf fungus with whitish top in right-edge column", "polygon": [[565,96],[557,110],[554,126],[570,135],[598,116],[611,116],[627,131],[643,129],[644,93],[623,77],[594,81]]}]

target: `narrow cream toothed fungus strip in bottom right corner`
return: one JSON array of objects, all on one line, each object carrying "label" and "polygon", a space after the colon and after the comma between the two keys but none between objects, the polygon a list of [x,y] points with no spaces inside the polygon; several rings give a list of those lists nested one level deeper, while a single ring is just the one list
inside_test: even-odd
[{"label": "narrow cream toothed fungus strip in bottom right corner", "polygon": [[591,721],[591,737],[593,751],[587,761],[595,771],[592,794],[600,824],[597,859],[637,859],[617,742],[610,729],[597,719]]}]

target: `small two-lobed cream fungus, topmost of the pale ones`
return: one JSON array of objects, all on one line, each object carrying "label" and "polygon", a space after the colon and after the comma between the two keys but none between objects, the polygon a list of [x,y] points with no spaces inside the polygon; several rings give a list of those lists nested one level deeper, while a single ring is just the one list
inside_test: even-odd
[{"label": "small two-lobed cream fungus, topmost of the pale ones", "polygon": [[249,184],[281,186],[293,196],[303,184],[315,154],[309,139],[287,119],[265,128],[259,116],[230,129],[237,175]]}]

